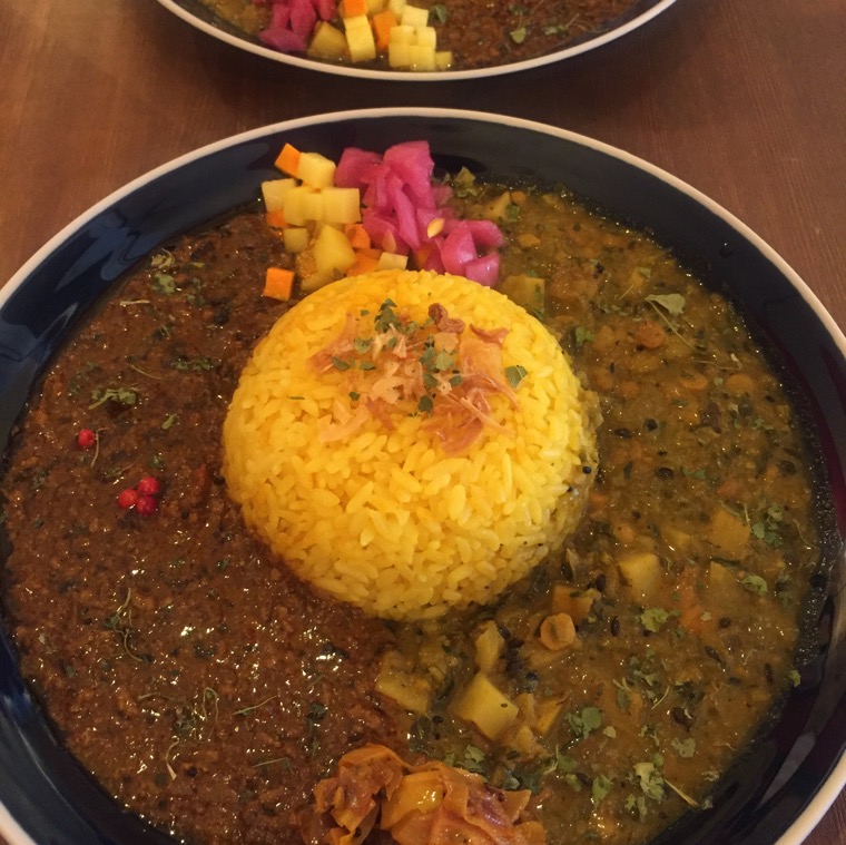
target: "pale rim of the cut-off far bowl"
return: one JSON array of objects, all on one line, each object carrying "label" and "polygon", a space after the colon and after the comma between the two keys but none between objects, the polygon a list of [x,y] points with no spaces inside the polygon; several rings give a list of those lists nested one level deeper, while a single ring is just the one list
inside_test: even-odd
[{"label": "pale rim of the cut-off far bowl", "polygon": [[616,41],[618,38],[631,32],[634,29],[648,23],[652,18],[657,17],[665,10],[669,9],[676,0],[659,0],[656,6],[647,9],[640,14],[636,16],[631,20],[627,21],[620,27],[616,27],[608,32],[603,32],[597,38],[591,38],[589,41],[568,47],[563,50],[555,50],[554,52],[547,53],[544,56],[538,56],[534,59],[524,59],[522,61],[512,61],[506,65],[496,65],[490,68],[475,68],[472,70],[434,70],[434,71],[413,71],[413,70],[377,70],[374,68],[360,68],[355,65],[333,65],[331,62],[318,61],[316,59],[307,59],[293,53],[283,53],[278,50],[273,50],[269,47],[263,45],[253,43],[246,38],[239,38],[238,36],[230,35],[210,23],[193,14],[187,9],[183,8],[177,0],[158,0],[158,2],[166,9],[171,11],[178,18],[189,23],[191,27],[205,32],[212,38],[216,38],[218,41],[224,41],[230,47],[235,47],[239,50],[254,53],[255,56],[262,56],[272,61],[281,62],[283,65],[293,65],[294,67],[304,68],[306,70],[316,70],[323,73],[335,73],[336,76],[357,77],[358,79],[384,79],[401,82],[446,82],[455,79],[479,79],[490,76],[499,76],[501,73],[517,73],[521,70],[530,70],[532,68],[539,68],[544,65],[550,65],[554,61],[563,61],[564,59],[573,58],[589,50],[594,50],[611,41]]}]

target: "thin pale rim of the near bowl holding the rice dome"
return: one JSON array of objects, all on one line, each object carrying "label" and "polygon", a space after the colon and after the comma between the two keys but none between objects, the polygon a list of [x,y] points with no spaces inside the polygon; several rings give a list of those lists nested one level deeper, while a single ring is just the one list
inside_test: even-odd
[{"label": "thin pale rim of the near bowl holding the rice dome", "polygon": [[[161,0],[159,0],[161,1]],[[834,317],[828,313],[816,294],[808,287],[804,279],[785,262],[784,258],[760,238],[755,232],[752,232],[746,224],[739,218],[735,217],[730,212],[724,208],[721,205],[710,199],[707,195],[699,191],[697,188],[690,186],[686,181],[672,176],[667,170],[650,164],[649,161],[639,158],[630,153],[627,153],[619,147],[606,144],[603,141],[596,140],[584,135],[573,132],[568,129],[560,129],[554,126],[541,124],[533,120],[527,120],[523,118],[496,115],[485,111],[465,111],[459,109],[446,108],[412,108],[412,107],[396,107],[396,108],[371,108],[371,109],[354,109],[345,111],[333,111],[323,115],[311,115],[308,117],[296,118],[293,120],[284,120],[276,124],[269,124],[255,129],[223,138],[212,144],[207,144],[190,153],[186,153],[173,160],[160,165],[153,170],[137,177],[132,181],[128,183],[121,188],[118,188],[99,203],[91,206],[87,212],[71,220],[59,233],[57,233],[50,240],[48,240],[38,252],[36,252],[29,261],[27,261],[20,269],[7,282],[7,284],[0,289],[0,311],[6,305],[6,302],[20,287],[31,273],[40,266],[56,249],[58,249],[68,238],[70,238],[77,230],[82,228],[97,215],[108,209],[124,197],[132,194],[138,188],[147,185],[148,183],[165,176],[174,170],[178,170],[180,167],[196,161],[205,156],[213,155],[217,151],[227,149],[229,147],[237,146],[243,143],[263,138],[267,135],[275,135],[285,131],[294,131],[302,127],[311,127],[323,124],[344,122],[358,119],[377,119],[377,118],[429,118],[432,120],[437,119],[453,119],[453,120],[470,120],[480,122],[494,122],[503,126],[513,127],[517,129],[524,129],[529,131],[541,132],[552,137],[560,138],[565,141],[574,143],[590,149],[597,150],[612,158],[616,158],[624,164],[631,165],[637,169],[646,171],[661,181],[667,183],[682,194],[686,194],[690,198],[695,199],[700,205],[708,208],[716,216],[720,217],[724,222],[729,224],[737,233],[751,243],[796,288],[799,295],[811,307],[814,313],[824,324],[826,331],[834,340],[839,351],[846,355],[846,335],[839,328]],[[823,785],[817,793],[811,797],[803,812],[794,819],[793,824],[785,831],[779,839],[774,845],[800,845],[810,832],[816,827],[826,812],[830,808],[834,802],[837,799],[840,792],[846,787],[846,751],[842,751],[838,762],[833,766],[828,773]],[[6,806],[0,803],[0,836],[3,836],[8,841],[8,845],[40,845],[36,843],[29,834],[23,831],[20,824],[11,816]]]}]

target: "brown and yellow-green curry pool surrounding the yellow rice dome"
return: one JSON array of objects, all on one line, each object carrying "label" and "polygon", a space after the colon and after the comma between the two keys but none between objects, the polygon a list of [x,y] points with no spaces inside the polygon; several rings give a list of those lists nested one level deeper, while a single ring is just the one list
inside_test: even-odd
[{"label": "brown and yellow-green curry pool surrounding the yellow rice dome", "polygon": [[[218,432],[287,307],[255,279],[294,266],[259,213],[134,274],[16,435],[4,598],[22,672],[104,787],[189,842],[297,841],[312,790],[365,744],[529,790],[548,842],[643,842],[708,807],[797,678],[811,480],[741,317],[564,190],[461,176],[452,202],[498,220],[501,289],[602,412],[577,534],[495,606],[382,622],[244,530]],[[125,489],[149,515],[116,503]]]}]

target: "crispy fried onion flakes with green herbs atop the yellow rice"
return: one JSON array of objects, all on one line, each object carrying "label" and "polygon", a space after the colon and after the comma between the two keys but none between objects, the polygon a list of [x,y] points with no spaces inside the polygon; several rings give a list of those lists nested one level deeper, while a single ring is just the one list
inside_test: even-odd
[{"label": "crispy fried onion flakes with green herbs atop the yellow rice", "polygon": [[400,403],[424,414],[447,454],[466,450],[488,428],[508,433],[491,413],[490,397],[505,396],[517,406],[514,389],[521,366],[502,365],[508,328],[484,330],[451,317],[440,303],[423,323],[394,311],[385,299],[374,315],[347,314],[341,333],[311,358],[318,373],[337,370],[348,380],[348,399],[337,399],[323,442],[348,438],[368,417],[392,430],[391,412]]}]

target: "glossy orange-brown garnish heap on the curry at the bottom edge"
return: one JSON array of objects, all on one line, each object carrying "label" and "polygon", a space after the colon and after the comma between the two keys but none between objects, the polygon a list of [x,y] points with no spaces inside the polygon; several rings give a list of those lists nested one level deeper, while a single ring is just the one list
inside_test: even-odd
[{"label": "glossy orange-brown garnish heap on the curry at the bottom edge", "polygon": [[317,784],[299,831],[306,845],[544,845],[540,822],[523,817],[529,797],[437,760],[413,766],[366,745]]}]

